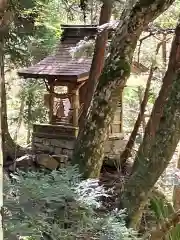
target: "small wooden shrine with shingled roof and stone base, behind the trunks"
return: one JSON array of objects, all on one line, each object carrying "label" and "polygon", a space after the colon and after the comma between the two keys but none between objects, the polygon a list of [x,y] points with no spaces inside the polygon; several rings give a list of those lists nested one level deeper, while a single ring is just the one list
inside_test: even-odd
[{"label": "small wooden shrine with shingled roof and stone base, behind the trunks", "polygon": [[[49,123],[34,124],[34,151],[71,155],[78,134],[79,119],[86,101],[85,88],[92,58],[72,56],[74,48],[85,37],[95,38],[97,26],[62,25],[63,34],[56,51],[37,64],[22,69],[18,74],[27,79],[42,79],[47,94],[44,102],[49,112]],[[133,64],[133,71],[144,71]],[[65,91],[62,92],[62,87]],[[120,137],[122,132],[122,95],[120,96],[110,137]]]}]

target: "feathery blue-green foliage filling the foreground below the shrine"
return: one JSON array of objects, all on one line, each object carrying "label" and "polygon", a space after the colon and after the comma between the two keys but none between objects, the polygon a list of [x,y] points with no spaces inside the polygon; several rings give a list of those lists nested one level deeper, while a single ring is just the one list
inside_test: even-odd
[{"label": "feathery blue-green foliage filling the foreground below the shrine", "polygon": [[81,181],[75,167],[18,172],[5,181],[4,193],[5,239],[13,234],[33,240],[139,239],[125,227],[123,212],[98,214],[107,193],[96,181]]}]

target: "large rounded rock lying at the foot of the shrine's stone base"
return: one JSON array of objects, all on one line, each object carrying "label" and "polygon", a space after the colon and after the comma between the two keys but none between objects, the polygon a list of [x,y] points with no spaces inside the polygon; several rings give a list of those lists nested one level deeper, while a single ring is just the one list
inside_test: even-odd
[{"label": "large rounded rock lying at the foot of the shrine's stone base", "polygon": [[37,155],[36,162],[38,165],[50,170],[56,170],[59,167],[59,162],[48,154]]}]

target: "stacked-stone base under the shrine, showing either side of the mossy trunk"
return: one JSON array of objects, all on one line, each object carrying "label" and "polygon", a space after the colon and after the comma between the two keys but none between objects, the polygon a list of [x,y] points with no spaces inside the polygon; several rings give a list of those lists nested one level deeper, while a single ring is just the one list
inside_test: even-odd
[{"label": "stacked-stone base under the shrine, showing either side of the mossy trunk", "polygon": [[[62,154],[71,158],[76,140],[75,130],[67,126],[35,125],[32,139],[33,152],[50,155]],[[109,138],[105,143],[105,157],[119,159],[125,145],[126,141],[123,140],[122,134],[119,137]]]}]

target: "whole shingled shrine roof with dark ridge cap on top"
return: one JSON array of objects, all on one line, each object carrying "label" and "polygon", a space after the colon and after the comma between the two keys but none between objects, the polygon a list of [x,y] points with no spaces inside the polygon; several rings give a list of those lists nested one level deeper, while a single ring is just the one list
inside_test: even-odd
[{"label": "whole shingled shrine roof with dark ridge cap on top", "polygon": [[[97,34],[95,25],[62,25],[64,30],[60,44],[54,54],[40,62],[18,71],[24,78],[57,79],[58,81],[80,82],[87,80],[92,63],[91,57],[72,56],[72,48],[84,37],[94,37]],[[132,71],[142,72],[136,63]]]}]

